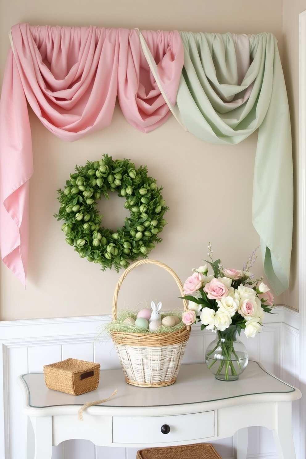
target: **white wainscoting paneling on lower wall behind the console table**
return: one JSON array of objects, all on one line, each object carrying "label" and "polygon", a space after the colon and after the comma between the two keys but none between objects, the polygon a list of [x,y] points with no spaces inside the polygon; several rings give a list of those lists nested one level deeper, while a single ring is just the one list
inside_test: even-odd
[{"label": "white wainscoting paneling on lower wall behind the console table", "polygon": [[[66,358],[98,362],[101,369],[120,368],[112,341],[101,334],[109,316],[37,319],[0,322],[0,459],[26,459],[27,419],[22,414],[22,393],[17,377],[42,372],[43,365]],[[202,363],[205,349],[215,335],[194,326],[182,364]],[[278,306],[277,314],[266,314],[263,331],[241,341],[249,358],[284,381],[299,387],[299,314]],[[226,383],[225,383],[226,384]],[[203,387],[205,390],[205,387]],[[299,401],[293,404],[293,432],[299,452]],[[224,459],[234,458],[232,438],[213,443]],[[135,459],[135,448],[96,447],[84,440],[69,440],[53,447],[52,459]],[[264,428],[249,428],[248,458],[277,459],[273,436]]]}]

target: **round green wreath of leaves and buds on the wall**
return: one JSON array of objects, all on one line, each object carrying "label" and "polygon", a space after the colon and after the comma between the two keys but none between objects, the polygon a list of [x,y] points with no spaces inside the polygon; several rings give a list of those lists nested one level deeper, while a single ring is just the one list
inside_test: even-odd
[{"label": "round green wreath of leaves and buds on the wall", "polygon": [[[147,258],[162,241],[158,235],[167,224],[163,215],[168,207],[161,196],[162,188],[148,177],[146,166],[136,169],[128,159],[103,155],[100,161],[88,161],[75,170],[64,190],[57,190],[61,206],[54,217],[65,221],[61,229],[66,242],[80,257],[100,263],[102,271],[114,267],[118,272],[138,257]],[[101,226],[103,215],[96,208],[102,195],[109,199],[108,191],[124,197],[124,207],[130,212],[116,232]]]}]

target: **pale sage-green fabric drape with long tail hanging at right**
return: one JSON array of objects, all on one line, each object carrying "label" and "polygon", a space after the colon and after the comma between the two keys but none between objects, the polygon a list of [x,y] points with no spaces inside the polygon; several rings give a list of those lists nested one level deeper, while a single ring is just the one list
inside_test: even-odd
[{"label": "pale sage-green fabric drape with long tail hanging at right", "polygon": [[[186,129],[211,143],[237,144],[258,129],[252,223],[267,280],[289,286],[293,167],[289,106],[277,40],[248,35],[250,65],[239,82],[232,34],[180,32],[184,68],[177,95]],[[238,66],[239,67],[239,66]]]}]

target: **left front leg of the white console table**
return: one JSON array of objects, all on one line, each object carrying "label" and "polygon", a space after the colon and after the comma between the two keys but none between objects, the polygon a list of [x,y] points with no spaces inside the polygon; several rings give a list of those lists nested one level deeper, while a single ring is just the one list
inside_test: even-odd
[{"label": "left front leg of the white console table", "polygon": [[28,425],[27,459],[51,459],[52,417],[30,417]]}]

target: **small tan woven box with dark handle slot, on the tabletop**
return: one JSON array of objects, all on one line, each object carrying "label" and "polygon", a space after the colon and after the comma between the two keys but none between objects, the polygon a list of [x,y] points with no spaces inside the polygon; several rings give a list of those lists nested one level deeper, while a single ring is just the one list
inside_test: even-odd
[{"label": "small tan woven box with dark handle slot, on the tabletop", "polygon": [[44,365],[44,374],[48,389],[81,395],[98,387],[100,364],[67,358],[56,364]]}]

